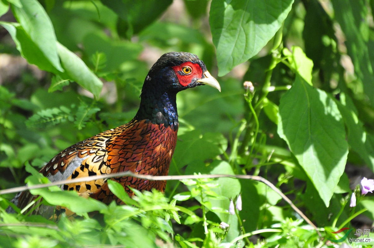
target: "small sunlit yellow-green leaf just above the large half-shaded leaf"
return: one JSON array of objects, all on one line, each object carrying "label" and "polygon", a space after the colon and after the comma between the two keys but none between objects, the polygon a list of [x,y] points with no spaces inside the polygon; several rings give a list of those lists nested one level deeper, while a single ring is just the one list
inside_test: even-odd
[{"label": "small sunlit yellow-green leaf just above the large half-shaded leaf", "polygon": [[312,84],[313,61],[309,59],[303,49],[298,46],[292,46],[292,53],[287,49],[283,49],[283,54],[287,57],[291,68],[293,68],[308,84]]}]

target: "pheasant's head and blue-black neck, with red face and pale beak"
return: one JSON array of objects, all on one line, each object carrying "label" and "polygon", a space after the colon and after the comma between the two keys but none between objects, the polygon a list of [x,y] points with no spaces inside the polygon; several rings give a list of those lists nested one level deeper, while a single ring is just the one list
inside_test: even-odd
[{"label": "pheasant's head and blue-black neck, with red face and pale beak", "polygon": [[221,92],[218,81],[196,55],[165,53],[154,63],[145,78],[141,104],[135,118],[178,127],[177,93],[204,84]]}]

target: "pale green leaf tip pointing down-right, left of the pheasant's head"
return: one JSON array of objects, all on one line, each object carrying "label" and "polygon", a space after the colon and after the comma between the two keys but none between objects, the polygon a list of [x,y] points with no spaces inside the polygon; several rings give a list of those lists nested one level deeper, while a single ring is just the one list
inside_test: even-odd
[{"label": "pale green leaf tip pointing down-right, left of the pheasant's head", "polygon": [[60,43],[57,43],[57,51],[61,58],[62,67],[69,79],[76,81],[77,84],[91,92],[95,98],[98,98],[102,89],[100,79],[86,66],[82,59]]}]

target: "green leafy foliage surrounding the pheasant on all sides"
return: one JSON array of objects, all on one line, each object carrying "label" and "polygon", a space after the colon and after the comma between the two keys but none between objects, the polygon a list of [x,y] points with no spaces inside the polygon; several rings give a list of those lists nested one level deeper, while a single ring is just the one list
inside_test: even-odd
[{"label": "green leafy foliage surrounding the pheasant on all sides", "polygon": [[[373,197],[353,209],[347,201],[363,176],[373,178],[372,7],[369,0],[0,0],[1,189],[24,185],[29,173],[29,185],[45,182],[35,169],[59,151],[131,120],[150,66],[165,52],[185,51],[206,63],[222,93],[178,94],[169,174],[261,175],[322,233],[262,183],[220,178],[170,181],[167,199],[157,192],[127,199],[113,184],[127,206],[34,190],[83,216],[58,223],[6,214],[13,195],[2,195],[0,246],[338,247],[327,238],[338,239],[331,232],[356,211],[365,213],[351,225],[371,229]],[[240,192],[243,210],[229,215]],[[93,210],[101,220],[86,214]]]}]

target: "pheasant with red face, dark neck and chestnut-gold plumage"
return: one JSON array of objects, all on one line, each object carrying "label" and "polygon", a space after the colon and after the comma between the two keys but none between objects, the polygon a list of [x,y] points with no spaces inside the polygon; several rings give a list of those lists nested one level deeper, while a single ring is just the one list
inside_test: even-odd
[{"label": "pheasant with red face, dark neck and chestnut-gold plumage", "polygon": [[[77,177],[110,174],[122,171],[165,176],[177,143],[178,92],[200,85],[209,85],[221,92],[220,84],[206,70],[196,55],[170,52],[162,55],[145,78],[140,108],[129,123],[99,133],[70,146],[57,154],[40,170],[50,181],[56,182]],[[131,196],[128,186],[138,190],[156,188],[165,190],[166,181],[151,181],[135,177],[115,177]],[[122,202],[109,190],[106,179],[61,186],[64,190],[76,190],[83,197],[92,197],[104,203]],[[18,193],[12,202],[24,208],[36,196],[25,191]],[[14,213],[9,207],[8,213]],[[47,218],[54,208],[41,205],[34,210]]]}]

